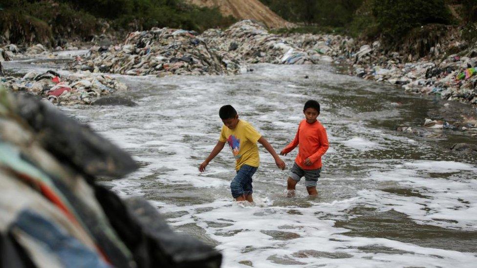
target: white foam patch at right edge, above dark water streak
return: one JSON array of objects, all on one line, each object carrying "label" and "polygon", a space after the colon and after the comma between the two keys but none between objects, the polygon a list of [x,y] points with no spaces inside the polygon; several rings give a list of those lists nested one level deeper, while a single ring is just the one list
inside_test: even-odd
[{"label": "white foam patch at right edge, above dark water streak", "polygon": [[[477,180],[472,178],[476,171],[476,166],[458,162],[404,161],[404,165],[395,165],[392,170],[371,172],[369,179],[397,182],[398,188],[409,189],[412,196],[403,199],[379,190],[360,195],[373,204],[387,204],[381,207],[405,213],[421,224],[477,230]],[[430,176],[452,172],[466,172],[469,176]]]}]

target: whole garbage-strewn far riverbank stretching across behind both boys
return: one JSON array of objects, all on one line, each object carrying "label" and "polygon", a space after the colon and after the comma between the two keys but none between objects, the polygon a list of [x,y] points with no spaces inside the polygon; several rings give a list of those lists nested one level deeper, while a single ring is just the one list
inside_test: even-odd
[{"label": "whole garbage-strewn far riverbank stretching across behind both boys", "polygon": [[[340,35],[271,34],[264,26],[249,20],[202,34],[152,28],[131,32],[120,44],[95,43],[87,55],[75,57],[69,68],[90,73],[164,77],[243,74],[253,71],[254,63],[332,62],[346,66],[348,74],[365,80],[395,84],[407,93],[435,95],[445,101],[477,107],[477,48],[464,46],[452,29],[447,30],[448,34],[430,48],[429,54],[418,57],[388,51],[380,41],[364,43]],[[459,47],[466,48],[459,51]],[[10,56],[18,51],[12,45],[3,50]],[[455,53],[448,55],[449,51]],[[31,57],[35,52],[49,53],[36,45],[14,56]],[[469,108],[460,118],[443,114],[430,120],[436,121],[434,128],[475,130],[476,117],[475,108]]]}]

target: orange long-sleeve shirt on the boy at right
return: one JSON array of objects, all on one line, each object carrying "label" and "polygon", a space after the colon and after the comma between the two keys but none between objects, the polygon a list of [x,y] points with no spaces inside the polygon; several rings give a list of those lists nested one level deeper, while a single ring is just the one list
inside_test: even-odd
[{"label": "orange long-sleeve shirt on the boy at right", "polygon": [[[295,139],[283,149],[285,153],[291,152],[298,145],[298,155],[295,163],[301,168],[310,170],[322,167],[321,157],[328,150],[328,136],[325,127],[317,120],[309,124],[304,119],[298,125]],[[310,158],[312,165],[305,165],[306,158]]]}]

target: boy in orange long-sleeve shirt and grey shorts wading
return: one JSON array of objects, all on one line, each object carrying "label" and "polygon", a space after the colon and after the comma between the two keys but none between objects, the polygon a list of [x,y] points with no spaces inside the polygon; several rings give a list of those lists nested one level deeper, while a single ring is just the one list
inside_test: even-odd
[{"label": "boy in orange long-sleeve shirt and grey shorts wading", "polygon": [[308,194],[318,195],[316,183],[322,167],[321,157],[328,149],[326,129],[320,121],[316,120],[320,115],[320,103],[313,100],[307,101],[303,113],[305,119],[298,125],[295,139],[280,152],[281,155],[286,155],[298,145],[298,155],[287,180],[288,197],[295,196],[295,186],[303,176]]}]

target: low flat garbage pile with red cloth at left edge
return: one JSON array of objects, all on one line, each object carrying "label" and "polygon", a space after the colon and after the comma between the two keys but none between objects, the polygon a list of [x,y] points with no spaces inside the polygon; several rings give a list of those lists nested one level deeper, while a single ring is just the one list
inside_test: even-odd
[{"label": "low flat garbage pile with red cloth at left edge", "polygon": [[107,75],[84,72],[62,76],[52,70],[29,72],[22,78],[0,77],[0,85],[41,96],[59,105],[91,104],[100,97],[127,89],[126,84]]}]

